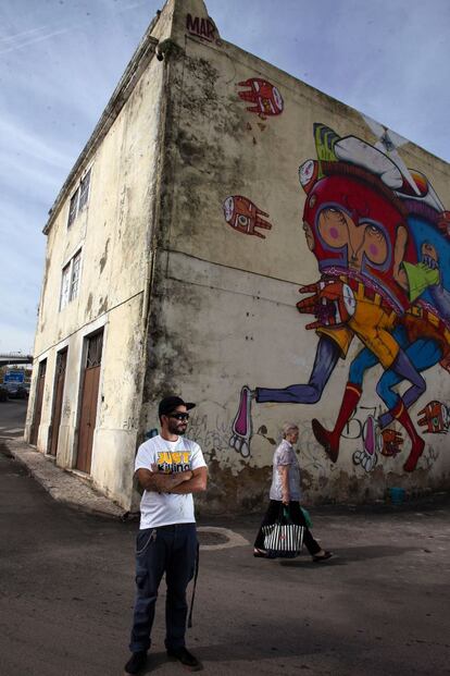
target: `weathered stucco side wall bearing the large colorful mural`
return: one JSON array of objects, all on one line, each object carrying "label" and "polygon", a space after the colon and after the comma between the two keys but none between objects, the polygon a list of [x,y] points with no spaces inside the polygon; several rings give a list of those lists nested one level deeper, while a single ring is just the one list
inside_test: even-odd
[{"label": "weathered stucco side wall bearing the large colorful mural", "polygon": [[449,165],[208,21],[173,35],[142,431],[161,393],[198,402],[208,511],[266,500],[285,420],[311,502],[448,488]]}]

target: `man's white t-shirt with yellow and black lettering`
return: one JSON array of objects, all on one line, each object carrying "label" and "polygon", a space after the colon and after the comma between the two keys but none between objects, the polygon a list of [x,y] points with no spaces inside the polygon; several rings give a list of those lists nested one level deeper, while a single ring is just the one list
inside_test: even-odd
[{"label": "man's white t-shirt with yellow and black lettering", "polygon": [[[175,474],[205,467],[203,454],[199,444],[184,437],[177,441],[166,441],[160,434],[149,439],[138,448],[135,459],[135,471],[149,469],[158,465],[159,471]],[[157,493],[143,491],[140,501],[140,526],[158,528],[171,524],[193,524],[192,493],[177,495],[175,493]]]}]

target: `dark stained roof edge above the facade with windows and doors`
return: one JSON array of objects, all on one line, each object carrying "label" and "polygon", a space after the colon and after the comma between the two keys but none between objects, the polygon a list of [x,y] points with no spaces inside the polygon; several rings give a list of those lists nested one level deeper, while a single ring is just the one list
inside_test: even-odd
[{"label": "dark stained roof edge above the facade with windows and doors", "polygon": [[49,211],[49,219],[42,230],[45,235],[48,235],[48,233],[50,232],[55,216],[59,212],[63,200],[67,197],[70,193],[74,177],[79,172],[83,164],[88,163],[93,155],[93,151],[97,149],[98,145],[108,134],[113,122],[116,120],[122,108],[128,100],[137,81],[153,58],[158,45],[158,39],[152,37],[150,34],[153,30],[155,24],[158,23],[160,15],[161,12],[157,13],[149,27],[147,28],[142,39],[140,40],[135,53],[132,57],[132,60],[126,66],[124,74],[122,75],[110,100],[108,101],[100,120],[96,124],[92,134],[90,135],[88,142],[79,153],[67,179],[65,180],[61,190],[59,192],[58,197]]}]

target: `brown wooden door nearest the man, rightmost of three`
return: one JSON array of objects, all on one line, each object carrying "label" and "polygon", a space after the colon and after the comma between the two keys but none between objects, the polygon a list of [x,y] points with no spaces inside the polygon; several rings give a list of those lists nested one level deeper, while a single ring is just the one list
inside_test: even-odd
[{"label": "brown wooden door nearest the man, rightmost of three", "polygon": [[97,404],[103,331],[87,339],[86,366],[83,373],[82,406],[78,427],[78,452],[76,469],[90,474],[93,432],[96,431]]}]

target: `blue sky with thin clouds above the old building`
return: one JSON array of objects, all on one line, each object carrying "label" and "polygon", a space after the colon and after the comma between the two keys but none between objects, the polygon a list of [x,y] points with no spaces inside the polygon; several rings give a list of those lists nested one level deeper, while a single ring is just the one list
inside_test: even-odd
[{"label": "blue sky with thin clouds above the old building", "polygon": [[[162,4],[0,4],[0,352],[32,349],[48,210]],[[450,161],[448,0],[207,7],[226,40]]]}]

